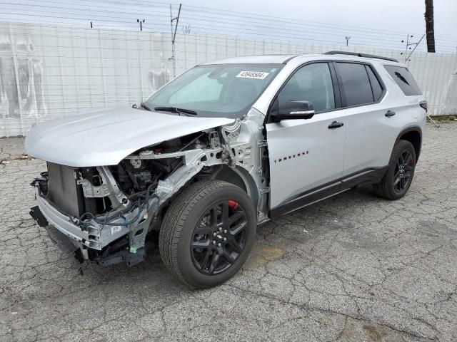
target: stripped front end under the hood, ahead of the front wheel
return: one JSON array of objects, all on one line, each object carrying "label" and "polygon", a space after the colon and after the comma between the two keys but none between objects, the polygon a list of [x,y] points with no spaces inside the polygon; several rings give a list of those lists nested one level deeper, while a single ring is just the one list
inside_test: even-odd
[{"label": "stripped front end under the hood, ahead of the front wheel", "polygon": [[159,231],[171,197],[228,158],[219,132],[209,130],[142,148],[114,166],[48,162],[31,183],[31,216],[80,261],[132,266],[146,258],[146,237]]}]

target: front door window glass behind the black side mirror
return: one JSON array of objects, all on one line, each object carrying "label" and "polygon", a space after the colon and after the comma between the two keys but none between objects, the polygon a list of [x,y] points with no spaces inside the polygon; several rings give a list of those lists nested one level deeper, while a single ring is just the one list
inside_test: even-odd
[{"label": "front door window glass behind the black side mirror", "polygon": [[309,64],[294,73],[278,95],[279,105],[288,100],[309,101],[316,113],[334,109],[335,97],[328,64]]}]

